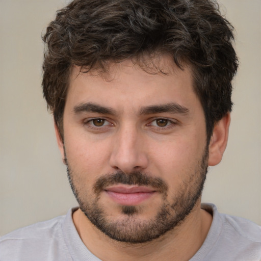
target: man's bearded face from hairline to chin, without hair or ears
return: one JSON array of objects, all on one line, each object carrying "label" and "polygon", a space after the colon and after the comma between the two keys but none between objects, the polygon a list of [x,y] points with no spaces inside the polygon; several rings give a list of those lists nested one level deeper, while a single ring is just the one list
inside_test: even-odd
[{"label": "man's bearded face from hairline to chin, without hair or ears", "polygon": [[112,239],[153,240],[200,201],[208,151],[189,68],[167,74],[131,61],[109,75],[71,75],[64,110],[68,176],[86,217]]}]

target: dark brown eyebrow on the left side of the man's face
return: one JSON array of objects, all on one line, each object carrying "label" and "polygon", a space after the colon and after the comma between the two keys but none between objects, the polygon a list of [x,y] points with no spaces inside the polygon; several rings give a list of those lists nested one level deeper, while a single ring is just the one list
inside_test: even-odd
[{"label": "dark brown eyebrow on the left side of the man's face", "polygon": [[92,103],[92,102],[81,103],[80,105],[73,107],[73,113],[77,114],[83,112],[94,112],[99,114],[111,114],[111,115],[116,114],[116,111],[113,110],[112,108],[97,105],[96,103]]}]

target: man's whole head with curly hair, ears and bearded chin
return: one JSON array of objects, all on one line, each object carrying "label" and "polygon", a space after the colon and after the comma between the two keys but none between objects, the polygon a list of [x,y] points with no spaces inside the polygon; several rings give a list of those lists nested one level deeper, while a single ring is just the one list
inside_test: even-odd
[{"label": "man's whole head with curly hair, ears and bearded chin", "polygon": [[83,213],[131,243],[181,224],[220,161],[210,146],[226,145],[237,57],[217,4],[73,1],[43,39],[43,92]]}]

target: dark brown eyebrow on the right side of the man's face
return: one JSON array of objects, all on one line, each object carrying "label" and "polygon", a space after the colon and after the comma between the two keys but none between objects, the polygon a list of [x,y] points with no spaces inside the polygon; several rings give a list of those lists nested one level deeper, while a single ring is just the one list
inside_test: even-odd
[{"label": "dark brown eyebrow on the right side of the man's face", "polygon": [[165,113],[165,112],[188,114],[190,110],[184,106],[179,105],[178,103],[171,102],[164,105],[151,105],[148,107],[143,107],[140,110],[140,115]]}]

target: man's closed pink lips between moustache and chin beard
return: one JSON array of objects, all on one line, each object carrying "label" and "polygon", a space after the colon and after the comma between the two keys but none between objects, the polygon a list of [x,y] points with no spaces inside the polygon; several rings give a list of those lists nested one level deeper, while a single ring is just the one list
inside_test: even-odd
[{"label": "man's closed pink lips between moustache and chin beard", "polygon": [[113,201],[121,205],[138,205],[152,197],[157,191],[140,186],[113,186],[105,189],[105,192]]}]

